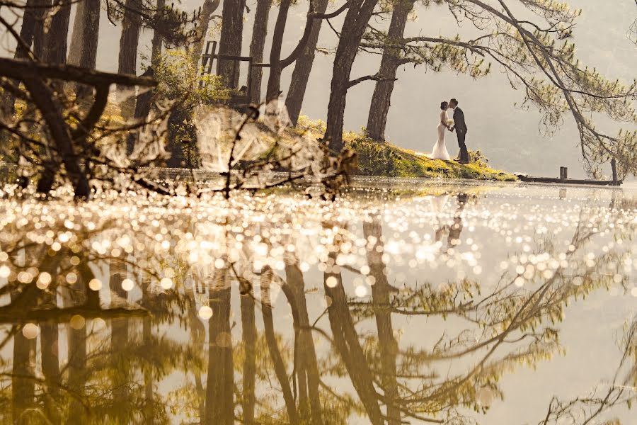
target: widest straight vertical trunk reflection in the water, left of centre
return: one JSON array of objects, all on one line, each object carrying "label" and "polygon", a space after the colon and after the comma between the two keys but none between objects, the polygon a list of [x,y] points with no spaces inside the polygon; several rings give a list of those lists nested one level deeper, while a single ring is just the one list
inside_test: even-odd
[{"label": "widest straight vertical trunk reflection in the water, left of centre", "polygon": [[203,424],[234,424],[234,367],[230,336],[230,279],[227,270],[215,272],[210,285],[208,377]]}]

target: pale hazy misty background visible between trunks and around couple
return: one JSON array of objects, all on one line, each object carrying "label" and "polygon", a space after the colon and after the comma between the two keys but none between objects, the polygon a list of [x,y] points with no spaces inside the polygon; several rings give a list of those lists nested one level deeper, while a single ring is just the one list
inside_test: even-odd
[{"label": "pale hazy misty background visible between trunks and around couple", "polygon": [[[334,1],[328,10],[334,10],[342,3],[343,1]],[[180,3],[180,8],[193,11],[202,4],[202,0],[185,0]],[[604,77],[609,79],[619,78],[629,82],[636,78],[637,46],[626,36],[637,16],[635,2],[633,0],[568,0],[568,4],[573,8],[583,9],[578,25],[573,31],[573,40],[577,47],[576,55],[583,64],[596,67]],[[241,52],[246,56],[251,41],[256,0],[247,0],[247,5],[250,13],[246,13]],[[215,14],[221,14],[222,6],[219,6]],[[307,7],[307,1],[298,1],[292,8],[285,30],[282,57],[291,52],[299,42],[305,25]],[[277,8],[273,7],[270,11],[264,62],[269,62],[269,40],[272,37],[276,16]],[[389,18],[391,18],[389,13],[385,20],[376,18],[377,27],[389,26]],[[425,7],[417,4],[412,18],[407,24],[406,37],[414,35],[452,37],[456,34],[471,36],[475,33],[469,21],[461,23],[459,27],[446,6]],[[71,11],[69,37],[73,20],[74,10]],[[340,31],[342,21],[343,16],[339,16],[332,19],[331,23]],[[215,27],[213,20],[207,40],[219,40],[219,29]],[[98,70],[117,72],[120,30],[121,26],[114,26],[108,21],[103,6],[96,65]],[[142,30],[137,61],[138,74],[149,63],[149,60],[144,57],[150,57],[151,38],[151,30]],[[13,55],[15,45],[11,36],[1,35],[0,42],[2,54]],[[318,46],[321,52],[314,60],[302,109],[302,113],[311,119],[325,120],[326,118],[333,57],[323,52],[333,51],[336,44],[337,36],[326,23],[323,23]],[[352,70],[352,79],[375,74],[379,63],[380,55],[360,52]],[[282,75],[284,96],[293,69],[294,65],[288,67]],[[247,70],[242,69],[240,84],[245,84],[246,74]],[[265,92],[267,76],[266,68],[263,92]],[[431,152],[437,137],[436,126],[440,102],[454,97],[459,100],[466,115],[469,127],[467,146],[469,149],[480,149],[495,168],[539,176],[558,176],[559,166],[568,166],[569,176],[585,176],[578,147],[578,132],[573,120],[567,116],[560,128],[546,135],[545,129],[541,127],[538,111],[532,105],[529,108],[521,107],[522,92],[511,88],[507,77],[500,72],[498,66],[492,66],[489,76],[472,79],[448,69],[436,73],[425,67],[414,68],[413,64],[407,64],[398,70],[397,77],[386,130],[387,140],[394,145]],[[345,111],[345,130],[360,130],[366,125],[373,90],[374,81],[367,81],[350,89]],[[609,130],[611,135],[615,135],[619,130],[618,125],[609,123],[603,118],[596,120],[596,123],[600,128]],[[634,125],[624,128],[635,130]],[[457,154],[457,141],[452,133],[447,133],[447,148],[452,156]],[[610,166],[605,166],[604,173],[610,173]]]}]

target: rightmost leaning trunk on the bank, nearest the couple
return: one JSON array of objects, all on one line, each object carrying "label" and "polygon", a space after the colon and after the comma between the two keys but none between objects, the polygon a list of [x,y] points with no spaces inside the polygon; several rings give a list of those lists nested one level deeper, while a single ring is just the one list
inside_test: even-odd
[{"label": "rightmost leaning trunk on the bank, nearest the couple", "polygon": [[414,1],[394,1],[394,12],[391,15],[391,23],[387,32],[388,40],[383,50],[383,58],[379,69],[380,81],[376,83],[372,104],[369,106],[369,116],[367,117],[367,135],[372,140],[379,142],[384,142],[385,140],[391,93],[394,91],[394,84],[396,83],[396,71],[401,65],[400,48],[397,47],[397,41],[403,38],[407,18],[413,9]]}]

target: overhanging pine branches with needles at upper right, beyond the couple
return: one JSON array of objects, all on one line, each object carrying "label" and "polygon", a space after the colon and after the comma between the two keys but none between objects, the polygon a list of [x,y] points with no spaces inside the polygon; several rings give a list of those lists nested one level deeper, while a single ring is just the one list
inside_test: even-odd
[{"label": "overhanging pine branches with needles at upper right, beyond the couple", "polygon": [[[637,173],[637,131],[619,128],[612,135],[595,124],[599,118],[609,118],[616,126],[637,123],[633,106],[637,80],[624,84],[607,79],[578,60],[571,38],[581,10],[566,1],[548,0],[427,0],[424,4],[446,6],[459,26],[468,23],[478,35],[473,39],[419,35],[390,40],[370,26],[361,48],[374,51],[389,44],[402,63],[424,65],[436,72],[447,67],[474,78],[487,75],[495,64],[510,86],[524,94],[522,107],[534,106],[540,111],[544,132],[556,131],[572,116],[589,174],[599,175],[600,165],[613,158],[618,162],[619,179]],[[527,11],[532,20],[525,19]]]}]

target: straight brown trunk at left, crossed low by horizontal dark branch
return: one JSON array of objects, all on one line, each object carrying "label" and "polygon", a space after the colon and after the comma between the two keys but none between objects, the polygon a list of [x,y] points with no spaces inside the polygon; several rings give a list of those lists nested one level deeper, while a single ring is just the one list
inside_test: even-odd
[{"label": "straight brown trunk at left, crossed low by horizontal dark branch", "polygon": [[[117,72],[119,74],[137,74],[137,45],[139,45],[139,29],[141,25],[139,9],[140,0],[126,0],[124,19],[122,20],[122,35],[120,35],[120,57]],[[118,87],[122,94],[122,116],[130,118],[135,107],[134,92],[123,93],[125,87]],[[133,89],[134,90],[134,89]]]}]

